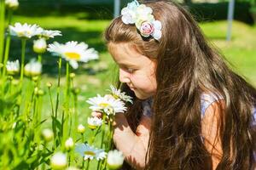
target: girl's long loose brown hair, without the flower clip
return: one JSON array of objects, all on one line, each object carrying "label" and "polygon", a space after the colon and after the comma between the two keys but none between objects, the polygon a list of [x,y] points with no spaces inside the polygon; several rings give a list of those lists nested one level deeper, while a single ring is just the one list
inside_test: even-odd
[{"label": "girl's long loose brown hair, without the flower clip", "polygon": [[[201,137],[204,92],[224,98],[218,127],[223,155],[217,169],[252,169],[256,148],[252,127],[255,88],[230,70],[184,8],[166,1],[146,5],[153,8],[155,20],[162,23],[159,42],[141,37],[136,26],[125,25],[120,17],[105,32],[108,43],[133,43],[157,62],[146,169],[212,169],[211,153]],[[122,88],[132,94],[126,85]],[[133,131],[141,114],[141,101],[135,97],[135,105],[127,113]]]}]

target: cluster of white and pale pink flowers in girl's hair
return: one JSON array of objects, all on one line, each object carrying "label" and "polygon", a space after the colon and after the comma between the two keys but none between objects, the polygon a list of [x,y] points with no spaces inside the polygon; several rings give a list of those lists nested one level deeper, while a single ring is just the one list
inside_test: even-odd
[{"label": "cluster of white and pale pink flowers in girl's hair", "polygon": [[160,20],[154,20],[153,10],[137,0],[127,4],[121,11],[122,21],[126,24],[135,24],[137,30],[143,37],[154,37],[160,40],[162,36],[162,25]]}]

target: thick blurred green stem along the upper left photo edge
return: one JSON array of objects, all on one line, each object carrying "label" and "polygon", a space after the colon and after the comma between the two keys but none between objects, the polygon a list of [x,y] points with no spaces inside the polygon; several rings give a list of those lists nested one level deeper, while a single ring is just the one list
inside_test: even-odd
[{"label": "thick blurred green stem along the upper left photo edge", "polygon": [[[3,62],[5,1],[0,0],[0,63]],[[1,70],[1,69],[0,69]]]}]

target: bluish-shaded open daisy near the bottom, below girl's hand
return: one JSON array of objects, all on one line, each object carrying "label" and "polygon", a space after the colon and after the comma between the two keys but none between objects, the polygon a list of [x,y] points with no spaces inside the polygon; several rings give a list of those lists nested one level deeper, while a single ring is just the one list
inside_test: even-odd
[{"label": "bluish-shaded open daisy near the bottom, below girl's hand", "polygon": [[107,156],[107,153],[104,150],[94,148],[89,144],[77,144],[75,150],[84,157],[84,161],[88,159],[96,159],[97,161],[99,161],[105,159]]}]

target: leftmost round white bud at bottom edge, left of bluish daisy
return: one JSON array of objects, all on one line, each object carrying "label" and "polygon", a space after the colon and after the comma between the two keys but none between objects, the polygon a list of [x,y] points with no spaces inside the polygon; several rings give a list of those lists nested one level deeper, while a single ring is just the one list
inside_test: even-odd
[{"label": "leftmost round white bud at bottom edge, left of bluish daisy", "polygon": [[61,152],[55,153],[50,159],[50,167],[53,169],[64,169],[67,167],[67,156]]}]

